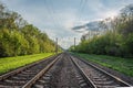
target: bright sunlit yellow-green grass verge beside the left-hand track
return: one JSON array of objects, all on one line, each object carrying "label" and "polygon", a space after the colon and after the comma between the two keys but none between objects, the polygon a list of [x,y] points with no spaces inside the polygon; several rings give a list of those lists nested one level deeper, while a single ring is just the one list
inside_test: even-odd
[{"label": "bright sunlit yellow-green grass verge beside the left-hand track", "polygon": [[28,64],[31,64],[33,62],[43,59],[51,55],[53,55],[53,53],[42,53],[34,55],[0,58],[0,75],[13,70],[16,68],[25,66]]}]

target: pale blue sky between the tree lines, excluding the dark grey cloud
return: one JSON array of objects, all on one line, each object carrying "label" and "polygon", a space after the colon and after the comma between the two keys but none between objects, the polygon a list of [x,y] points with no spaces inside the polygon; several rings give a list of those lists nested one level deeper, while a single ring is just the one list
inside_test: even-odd
[{"label": "pale blue sky between the tree lines, excluding the dark grey cloud", "polygon": [[49,37],[59,40],[59,45],[68,48],[76,44],[84,32],[74,32],[73,26],[91,21],[115,16],[133,0],[0,0],[11,11],[45,32]]}]

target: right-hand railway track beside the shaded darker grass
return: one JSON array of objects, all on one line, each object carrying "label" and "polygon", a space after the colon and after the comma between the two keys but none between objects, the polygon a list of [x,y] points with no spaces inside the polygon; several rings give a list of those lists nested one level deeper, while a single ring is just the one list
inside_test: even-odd
[{"label": "right-hand railway track beside the shaded darker grass", "polygon": [[121,80],[120,78],[106,73],[105,70],[92,65],[84,59],[73,56],[71,56],[71,59],[90,80],[93,86],[92,88],[131,87],[130,84]]}]

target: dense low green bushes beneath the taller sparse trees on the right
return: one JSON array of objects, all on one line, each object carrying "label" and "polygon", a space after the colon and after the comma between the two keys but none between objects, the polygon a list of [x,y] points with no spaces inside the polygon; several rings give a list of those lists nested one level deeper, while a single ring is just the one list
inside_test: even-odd
[{"label": "dense low green bushes beneath the taller sparse trees on the right", "polygon": [[132,56],[133,34],[127,37],[120,33],[106,32],[103,35],[82,41],[74,51],[88,54]]}]

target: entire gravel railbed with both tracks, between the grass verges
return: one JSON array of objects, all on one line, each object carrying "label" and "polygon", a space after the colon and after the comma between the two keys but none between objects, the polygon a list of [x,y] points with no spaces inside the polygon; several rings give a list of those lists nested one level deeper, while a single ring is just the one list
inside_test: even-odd
[{"label": "entire gravel railbed with both tracks, between the grass verges", "polygon": [[68,53],[49,57],[0,76],[0,88],[115,87],[131,87],[131,85]]}]

